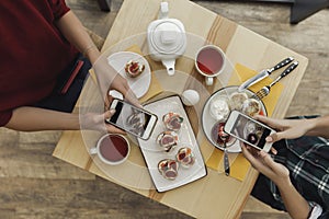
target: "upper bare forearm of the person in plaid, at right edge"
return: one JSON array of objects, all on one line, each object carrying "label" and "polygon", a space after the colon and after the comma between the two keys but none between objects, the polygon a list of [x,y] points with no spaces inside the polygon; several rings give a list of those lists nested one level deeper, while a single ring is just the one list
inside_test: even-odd
[{"label": "upper bare forearm of the person in plaid, at right edge", "polygon": [[329,138],[329,116],[321,116],[317,118],[308,119],[311,125],[309,130],[306,132],[308,136],[321,136]]}]

